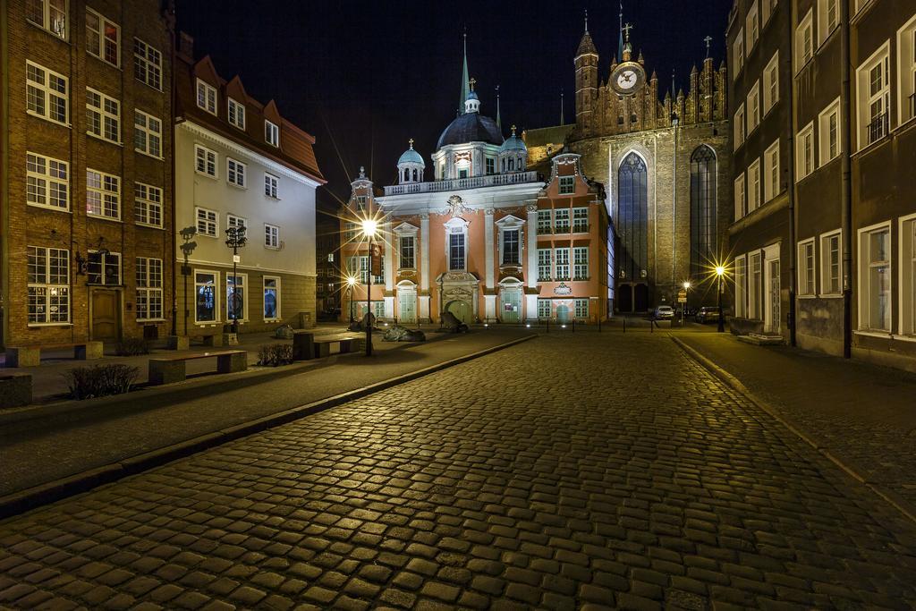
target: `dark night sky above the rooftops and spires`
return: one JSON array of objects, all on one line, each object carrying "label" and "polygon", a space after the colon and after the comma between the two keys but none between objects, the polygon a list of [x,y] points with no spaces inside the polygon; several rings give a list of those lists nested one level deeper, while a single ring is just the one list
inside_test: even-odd
[{"label": "dark night sky above the rooftops and spires", "polygon": [[[707,35],[718,65],[730,5],[624,1],[634,48],[642,49],[649,73],[658,71],[662,91],[672,69],[685,87],[692,64],[705,56]],[[376,184],[394,182],[410,137],[429,163],[458,105],[464,27],[485,115],[496,115],[498,84],[507,133],[513,123],[519,130],[558,125],[561,91],[571,121],[584,8],[605,80],[617,49],[616,1],[179,0],[178,23],[194,37],[198,58],[209,53],[225,79],[241,75],[249,94],[275,99],[282,115],[316,136],[329,180],[319,202],[334,206],[335,195],[349,196],[360,165]]]}]

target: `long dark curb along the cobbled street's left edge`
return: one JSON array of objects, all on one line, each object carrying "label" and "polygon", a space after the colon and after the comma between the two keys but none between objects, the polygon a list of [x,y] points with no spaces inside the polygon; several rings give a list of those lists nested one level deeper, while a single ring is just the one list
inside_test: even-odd
[{"label": "long dark curb along the cobbled street's left edge", "polygon": [[202,450],[223,445],[226,442],[233,442],[257,432],[267,431],[267,429],[271,429],[281,424],[287,424],[294,420],[299,420],[305,416],[310,416],[311,414],[316,414],[325,409],[348,403],[357,398],[364,398],[368,395],[373,395],[376,392],[390,387],[396,387],[419,377],[429,376],[430,374],[442,371],[442,369],[461,365],[475,358],[493,354],[516,344],[528,342],[536,337],[538,337],[538,335],[535,334],[531,334],[527,337],[520,337],[505,344],[498,344],[485,348],[484,350],[479,350],[470,355],[458,356],[436,365],[424,367],[417,371],[411,371],[401,376],[391,377],[387,380],[370,384],[369,386],[348,390],[347,392],[334,395],[333,397],[322,398],[318,401],[300,405],[297,408],[286,409],[256,420],[249,420],[242,424],[236,424],[220,431],[207,433],[185,442],[173,443],[163,448],[159,448],[158,450],[153,450],[152,452],[137,454],[136,456],[125,458],[117,463],[106,464],[89,471],[48,482],[47,484],[33,486],[7,496],[2,496],[0,497],[0,519],[16,516],[29,509],[48,505],[49,503],[59,501],[68,496],[88,492],[95,487],[111,484],[128,475],[136,475],[153,467],[161,466],[180,458],[185,458],[191,454],[201,452]]}]

